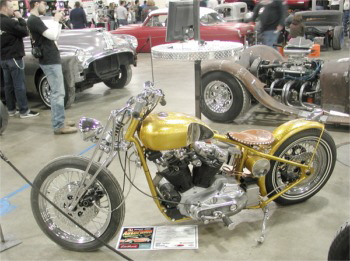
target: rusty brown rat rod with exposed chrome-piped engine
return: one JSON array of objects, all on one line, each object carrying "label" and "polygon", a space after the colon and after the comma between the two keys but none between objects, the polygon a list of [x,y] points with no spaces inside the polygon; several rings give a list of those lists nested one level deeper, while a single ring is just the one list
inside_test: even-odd
[{"label": "rusty brown rat rod with exposed chrome-piped engine", "polygon": [[350,58],[311,60],[306,58],[311,46],[298,37],[284,48],[288,59],[271,47],[255,45],[245,49],[238,62],[203,64],[202,113],[212,121],[230,122],[259,102],[298,117],[320,108],[326,111],[320,112],[325,123],[350,125]]}]

